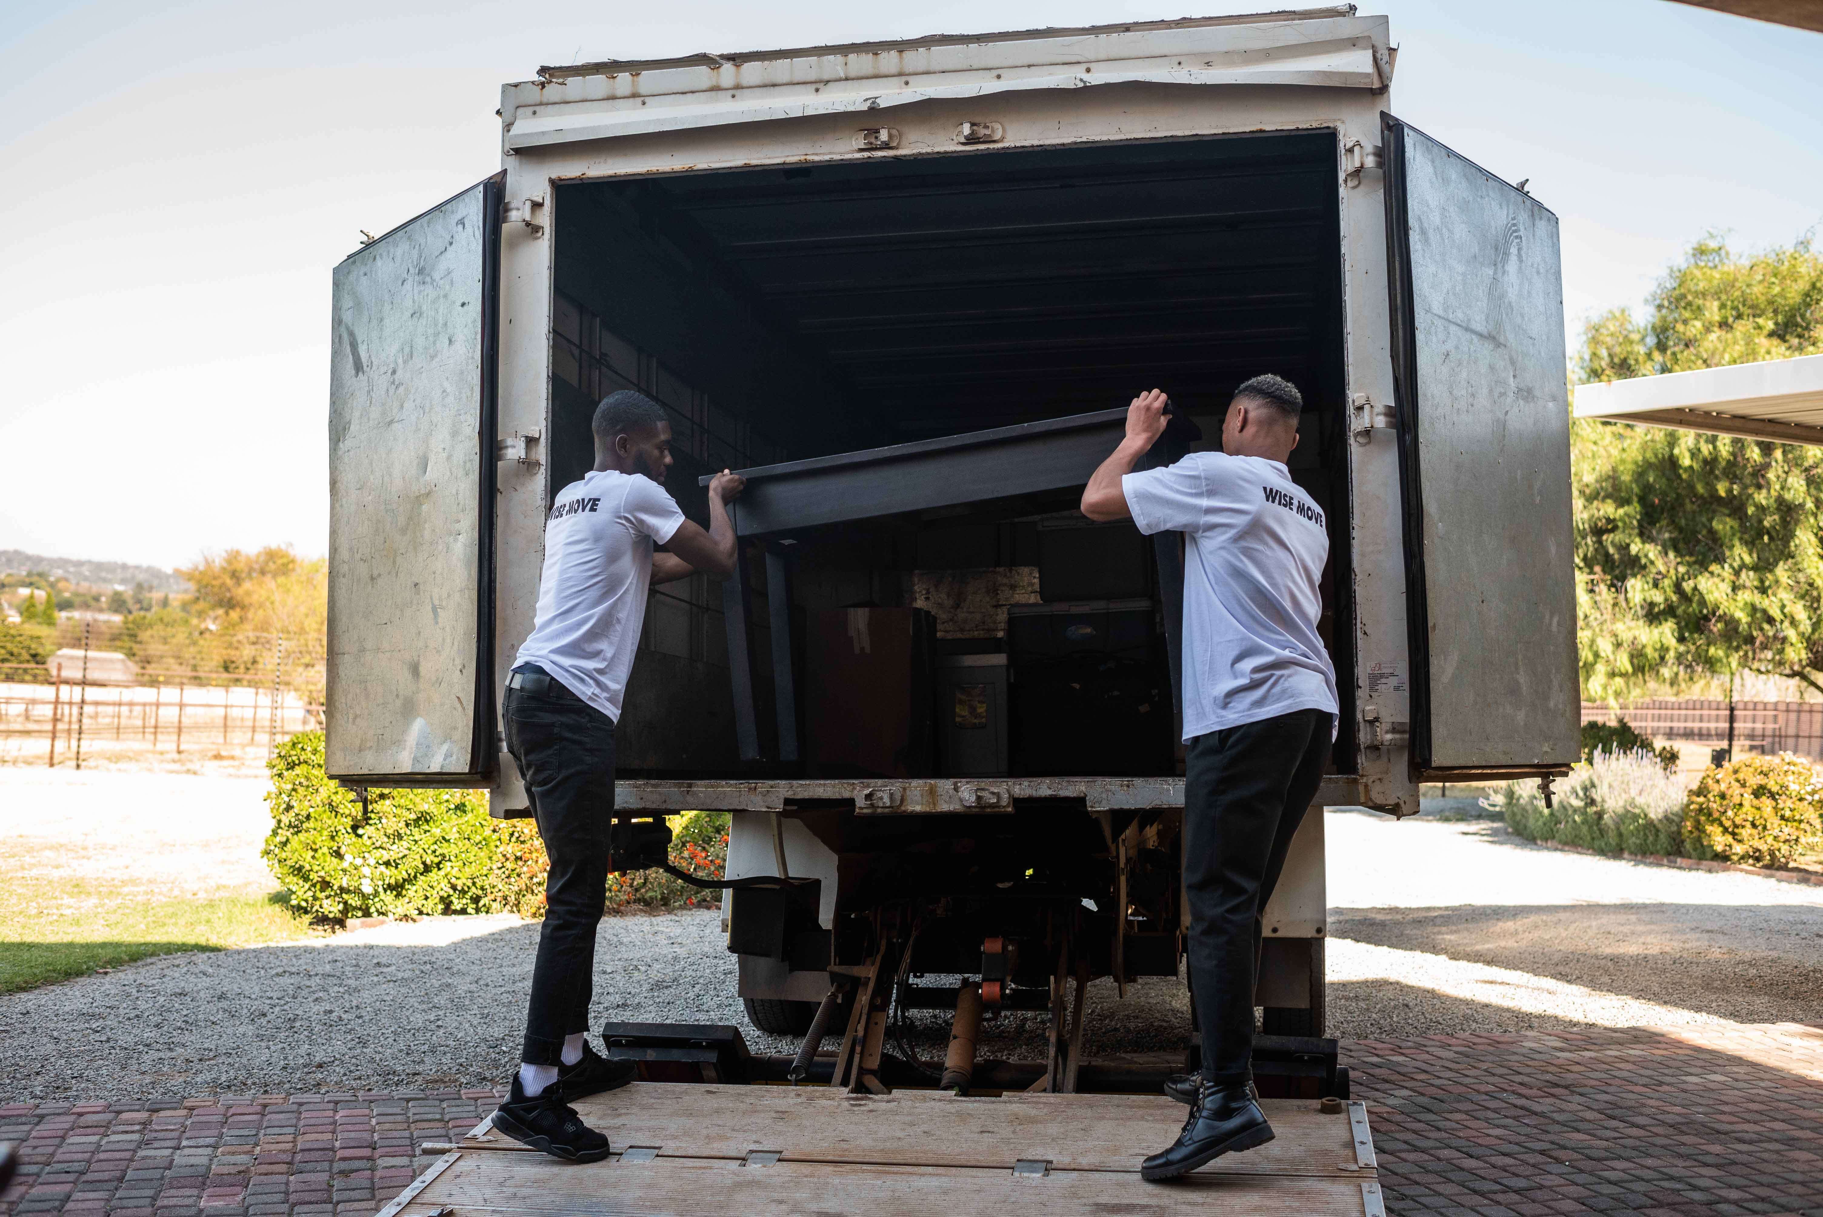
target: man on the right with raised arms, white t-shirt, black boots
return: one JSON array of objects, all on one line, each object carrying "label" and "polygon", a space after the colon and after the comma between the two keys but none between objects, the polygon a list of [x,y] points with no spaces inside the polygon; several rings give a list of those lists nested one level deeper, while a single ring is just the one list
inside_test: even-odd
[{"label": "man on the right with raised arms, white t-shirt, black boots", "polygon": [[1329,532],[1285,468],[1303,399],[1276,375],[1254,377],[1234,390],[1221,452],[1136,474],[1165,408],[1159,390],[1134,399],[1127,437],[1083,492],[1090,519],[1185,534],[1183,882],[1203,1071],[1167,1086],[1192,1113],[1143,1179],[1272,1140],[1251,1088],[1260,911],[1336,732],[1336,674],[1316,634]]}]

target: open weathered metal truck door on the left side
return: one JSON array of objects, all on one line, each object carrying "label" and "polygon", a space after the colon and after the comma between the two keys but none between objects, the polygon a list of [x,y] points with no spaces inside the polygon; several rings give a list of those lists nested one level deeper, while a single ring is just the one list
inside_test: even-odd
[{"label": "open weathered metal truck door on the left side", "polygon": [[494,747],[503,175],[335,268],[326,767],[479,785]]}]

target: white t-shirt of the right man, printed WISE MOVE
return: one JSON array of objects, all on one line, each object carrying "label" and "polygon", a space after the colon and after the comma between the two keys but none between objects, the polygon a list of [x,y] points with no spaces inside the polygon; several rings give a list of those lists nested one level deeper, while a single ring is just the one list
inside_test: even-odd
[{"label": "white t-shirt of the right man, printed WISE MOVE", "polygon": [[[1336,712],[1316,634],[1323,512],[1265,457],[1192,452],[1127,474],[1139,532],[1183,532],[1183,738],[1291,711]],[[1334,725],[1331,725],[1334,727]]]}]

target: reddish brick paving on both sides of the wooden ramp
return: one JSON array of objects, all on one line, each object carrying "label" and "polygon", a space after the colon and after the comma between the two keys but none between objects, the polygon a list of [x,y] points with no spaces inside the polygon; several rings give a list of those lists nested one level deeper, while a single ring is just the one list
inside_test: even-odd
[{"label": "reddish brick paving on both sides of the wooden ramp", "polygon": [[[1823,1029],[1608,1029],[1345,1046],[1387,1212],[1823,1217]],[[489,1091],[0,1108],[5,1213],[368,1217]]]}]

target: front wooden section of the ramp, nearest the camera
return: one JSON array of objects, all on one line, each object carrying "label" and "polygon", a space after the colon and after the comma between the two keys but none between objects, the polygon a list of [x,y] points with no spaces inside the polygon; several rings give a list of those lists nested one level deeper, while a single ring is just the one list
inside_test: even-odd
[{"label": "front wooden section of the ramp, nearest the camera", "polygon": [[[713,1119],[707,1111],[698,1119]],[[1344,1124],[1347,1120],[1344,1119]],[[1127,1171],[1052,1171],[942,1166],[853,1166],[618,1157],[572,1166],[534,1153],[463,1153],[403,1210],[430,1217],[443,1206],[479,1213],[1249,1213],[1258,1217],[1364,1217],[1373,1179],[1220,1175],[1198,1171],[1169,1184]],[[1378,1199],[1378,1197],[1375,1197]]]}]

